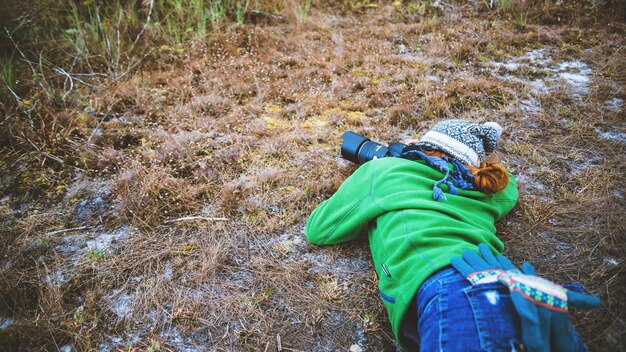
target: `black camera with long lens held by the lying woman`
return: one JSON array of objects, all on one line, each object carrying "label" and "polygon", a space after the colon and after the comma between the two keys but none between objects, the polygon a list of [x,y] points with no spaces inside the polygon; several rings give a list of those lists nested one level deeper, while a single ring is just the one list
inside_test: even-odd
[{"label": "black camera with long lens held by the lying woman", "polygon": [[385,147],[352,131],[345,132],[341,138],[343,139],[341,156],[360,165],[373,159],[388,156],[400,157],[404,148],[407,147],[404,143],[391,143]]}]

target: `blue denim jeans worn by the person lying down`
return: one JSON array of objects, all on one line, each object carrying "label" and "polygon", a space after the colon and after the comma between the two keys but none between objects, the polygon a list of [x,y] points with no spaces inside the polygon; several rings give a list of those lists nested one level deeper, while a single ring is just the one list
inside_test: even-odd
[{"label": "blue denim jeans worn by the person lying down", "polygon": [[[428,278],[417,291],[420,351],[516,351],[521,330],[508,289],[472,286],[453,268]],[[586,347],[576,334],[576,351]]]}]

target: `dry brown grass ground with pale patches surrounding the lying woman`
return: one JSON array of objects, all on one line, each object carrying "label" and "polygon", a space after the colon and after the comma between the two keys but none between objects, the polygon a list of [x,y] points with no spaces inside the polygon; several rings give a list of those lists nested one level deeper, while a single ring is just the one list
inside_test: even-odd
[{"label": "dry brown grass ground with pale patches surrounding the lying woman", "polygon": [[342,132],[452,117],[505,128],[505,254],[601,296],[574,324],[625,350],[625,6],[486,4],[251,12],[115,79],[7,94],[0,350],[394,351],[366,238],[303,228],[356,168]]}]

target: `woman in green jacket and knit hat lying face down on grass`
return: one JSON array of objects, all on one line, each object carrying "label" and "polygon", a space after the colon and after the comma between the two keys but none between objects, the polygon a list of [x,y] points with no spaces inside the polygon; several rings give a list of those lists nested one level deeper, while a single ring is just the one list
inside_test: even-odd
[{"label": "woman in green jacket and knit hat lying face down on grass", "polygon": [[[494,122],[440,122],[402,158],[363,164],[307,221],[317,245],[367,231],[380,296],[407,350],[586,350],[569,323],[570,291],[492,254],[504,249],[494,223],[518,197],[515,179],[486,161],[501,132]],[[584,296],[587,308],[599,305]]]}]

